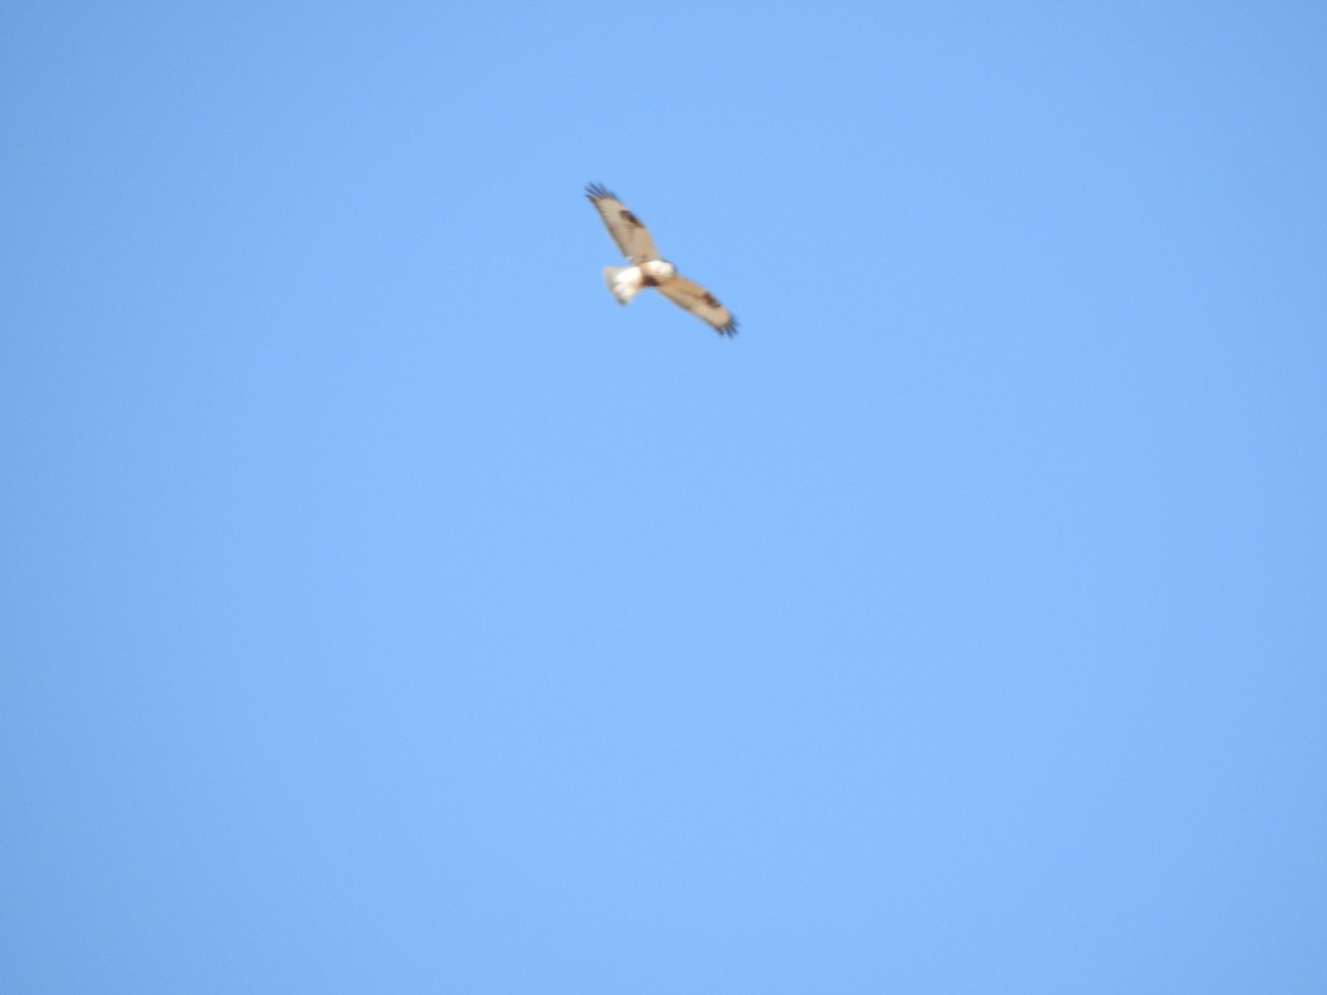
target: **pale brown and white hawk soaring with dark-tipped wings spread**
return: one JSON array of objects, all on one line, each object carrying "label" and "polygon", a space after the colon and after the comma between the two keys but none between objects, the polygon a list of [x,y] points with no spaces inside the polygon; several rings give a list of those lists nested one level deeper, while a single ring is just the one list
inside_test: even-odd
[{"label": "pale brown and white hawk soaring with dark-tipped wings spread", "polygon": [[721,336],[736,334],[738,320],[713,293],[685,276],[678,276],[675,265],[660,259],[649,230],[621,200],[598,183],[585,187],[585,196],[594,204],[598,216],[608,226],[608,233],[630,263],[626,267],[604,267],[604,281],[618,304],[630,304],[632,297],[642,288],[653,287],[674,304],[710,322]]}]

